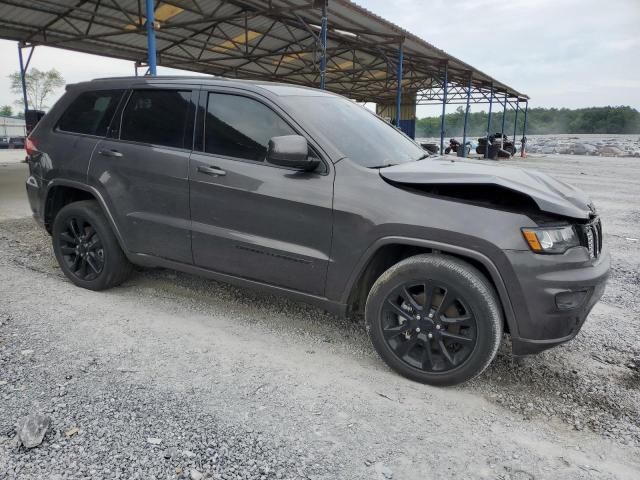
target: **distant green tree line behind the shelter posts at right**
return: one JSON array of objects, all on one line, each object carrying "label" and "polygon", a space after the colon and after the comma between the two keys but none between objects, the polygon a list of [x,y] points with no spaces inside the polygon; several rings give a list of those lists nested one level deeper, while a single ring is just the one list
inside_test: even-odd
[{"label": "distant green tree line behind the shelter posts at right", "polygon": [[[515,111],[507,111],[505,133],[513,135]],[[481,137],[487,132],[488,114],[470,112],[467,137]],[[524,112],[518,113],[518,135],[522,135]],[[445,116],[445,137],[461,137],[464,127],[464,108]],[[502,111],[491,115],[490,133],[502,129]],[[527,113],[527,134],[561,133],[640,133],[640,112],[631,107],[532,108]],[[417,137],[439,137],[440,117],[421,118],[416,122]]]}]

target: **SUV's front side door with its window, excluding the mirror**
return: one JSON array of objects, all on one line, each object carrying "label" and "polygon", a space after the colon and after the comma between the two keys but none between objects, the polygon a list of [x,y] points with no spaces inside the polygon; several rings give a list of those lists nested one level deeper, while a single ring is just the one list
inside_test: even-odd
[{"label": "SUV's front side door with its window, excluding the mirror", "polygon": [[194,263],[323,295],[332,229],[329,162],[316,172],[269,165],[269,139],[300,133],[284,112],[249,93],[203,89],[200,98],[202,141],[189,171]]}]

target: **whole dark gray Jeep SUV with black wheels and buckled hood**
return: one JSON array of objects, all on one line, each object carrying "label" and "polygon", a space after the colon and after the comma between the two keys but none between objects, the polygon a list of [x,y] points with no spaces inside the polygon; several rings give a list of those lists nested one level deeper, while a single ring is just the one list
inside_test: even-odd
[{"label": "whole dark gray Jeep SUV with black wheels and buckled hood", "polygon": [[132,264],[363,313],[384,361],[451,385],[573,338],[609,270],[600,218],[542,173],[429,157],[350,100],[221,78],[67,92],[27,139],[27,193],[76,285]]}]

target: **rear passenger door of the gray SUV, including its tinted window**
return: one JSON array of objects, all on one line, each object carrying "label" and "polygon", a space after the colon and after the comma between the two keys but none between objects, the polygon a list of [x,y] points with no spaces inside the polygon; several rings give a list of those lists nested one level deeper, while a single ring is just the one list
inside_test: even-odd
[{"label": "rear passenger door of the gray SUV, including its tinted window", "polygon": [[96,147],[89,182],[103,192],[126,247],[192,263],[189,155],[197,89],[134,89],[111,137]]}]

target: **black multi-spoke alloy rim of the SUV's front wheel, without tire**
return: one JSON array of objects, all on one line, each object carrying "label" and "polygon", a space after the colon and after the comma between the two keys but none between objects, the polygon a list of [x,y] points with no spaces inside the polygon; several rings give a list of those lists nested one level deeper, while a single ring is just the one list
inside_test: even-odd
[{"label": "black multi-spoke alloy rim of the SUV's front wheel, without tire", "polygon": [[382,307],[382,331],[391,350],[425,372],[462,365],[476,346],[475,316],[450,285],[406,283]]}]

